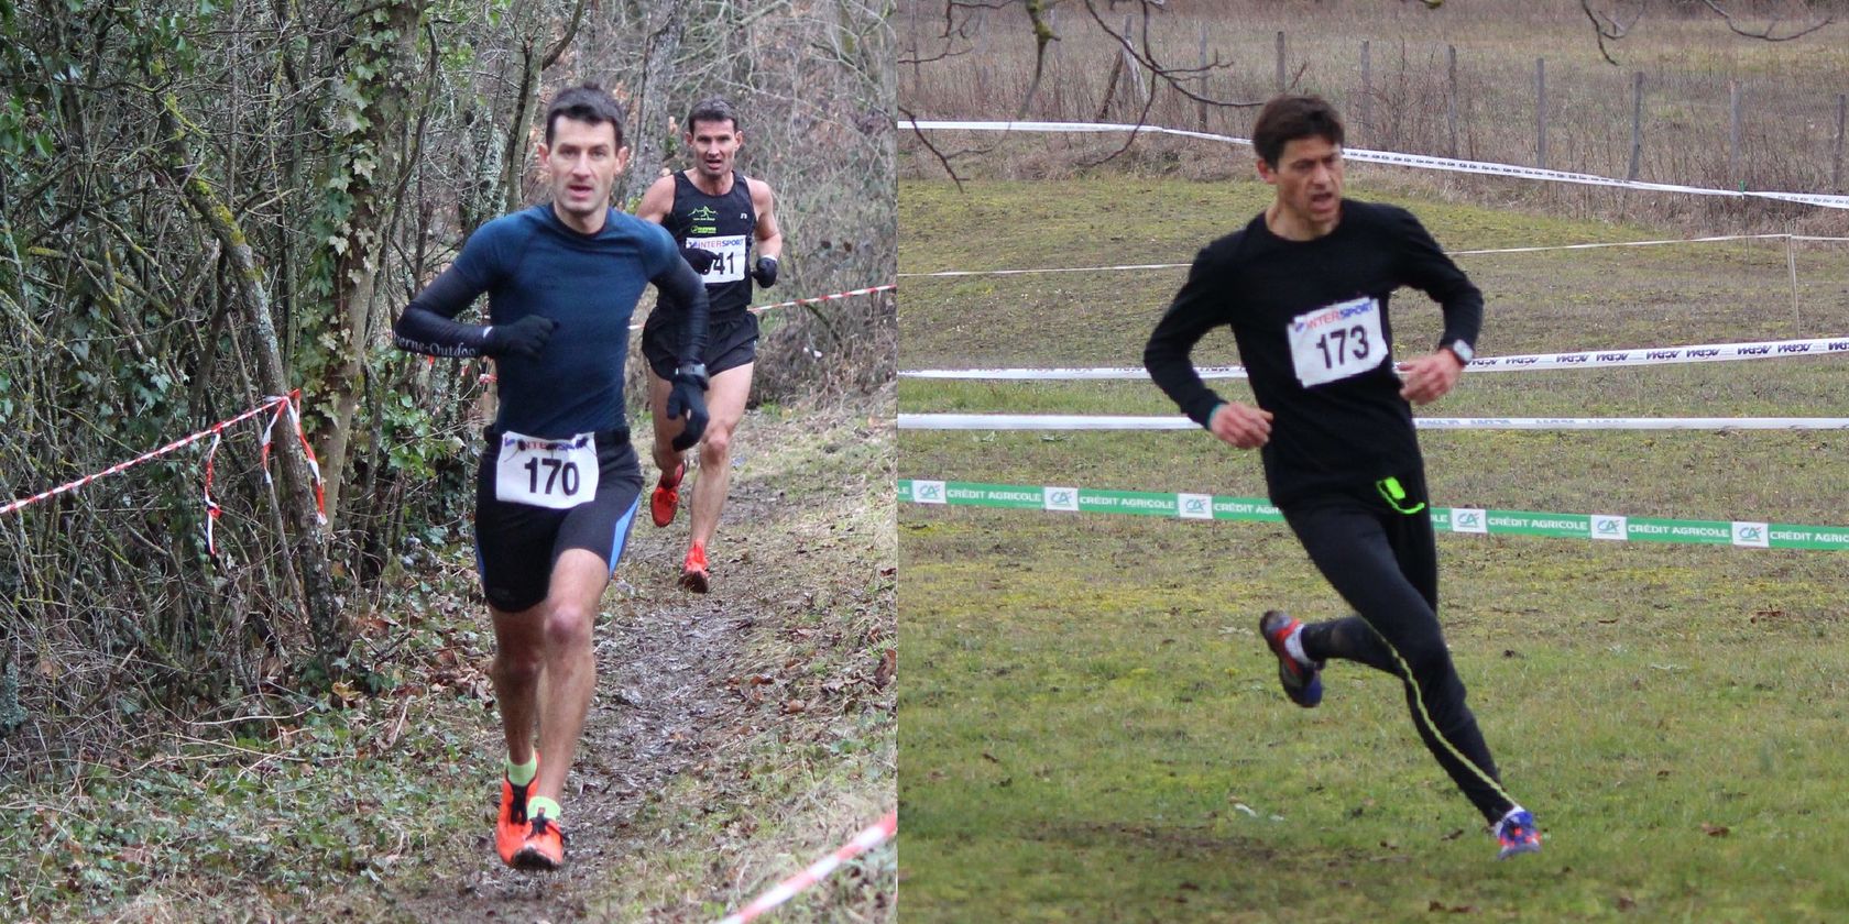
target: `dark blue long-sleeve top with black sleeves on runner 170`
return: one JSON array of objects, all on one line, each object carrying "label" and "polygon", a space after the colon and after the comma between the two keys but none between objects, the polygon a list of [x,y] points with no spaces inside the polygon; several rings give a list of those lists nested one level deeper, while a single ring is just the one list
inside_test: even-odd
[{"label": "dark blue long-sleeve top with black sleeves on runner 170", "polygon": [[603,229],[582,235],[549,203],[534,205],[475,229],[457,261],[405,309],[394,342],[435,357],[479,357],[486,327],[453,318],[483,292],[490,325],[551,318],[558,327],[538,359],[496,359],[496,425],[549,440],[610,431],[623,425],[629,322],[649,283],[688,307],[680,362],[699,362],[706,286],[666,229],[610,209]]}]

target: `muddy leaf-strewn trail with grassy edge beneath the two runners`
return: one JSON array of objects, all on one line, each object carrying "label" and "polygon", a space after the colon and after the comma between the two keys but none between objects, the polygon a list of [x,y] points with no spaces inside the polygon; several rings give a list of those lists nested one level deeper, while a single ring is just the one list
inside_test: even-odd
[{"label": "muddy leaf-strewn trail with grassy edge beneath the two runners", "polygon": [[[640,514],[605,593],[597,697],[566,784],[566,869],[496,859],[497,787],[484,776],[481,824],[435,848],[429,878],[355,917],[712,920],[895,804],[889,416],[753,412],[736,455],[712,591],[675,586],[682,497],[667,529]],[[653,488],[653,466],[643,473]],[[492,710],[473,737],[486,765]],[[845,793],[814,791],[830,778]],[[810,896],[778,920],[889,920],[891,867],[875,854],[817,889],[858,907]]]}]

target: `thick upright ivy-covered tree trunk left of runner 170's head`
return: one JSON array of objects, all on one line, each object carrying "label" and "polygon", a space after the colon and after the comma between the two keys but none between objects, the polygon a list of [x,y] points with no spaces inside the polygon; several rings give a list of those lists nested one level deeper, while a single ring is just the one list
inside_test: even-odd
[{"label": "thick upright ivy-covered tree trunk left of runner 170's head", "polygon": [[340,512],[346,484],[353,412],[366,388],[366,355],[373,340],[373,290],[379,279],[386,224],[394,213],[399,133],[409,116],[409,92],[416,70],[418,22],[423,2],[373,6],[355,0],[357,35],[351,65],[337,96],[335,126],[340,142],[329,163],[329,218],[333,231],[322,266],[331,266],[335,355],[324,383],[331,408],[322,442],[322,475],[327,479],[327,517]]}]

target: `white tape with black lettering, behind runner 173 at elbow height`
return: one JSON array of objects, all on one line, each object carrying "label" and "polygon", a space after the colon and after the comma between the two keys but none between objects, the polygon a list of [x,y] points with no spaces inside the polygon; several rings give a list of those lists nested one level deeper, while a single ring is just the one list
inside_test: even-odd
[{"label": "white tape with black lettering, behind runner 173 at elbow height", "polygon": [[[1849,357],[1849,336],[1808,340],[1757,340],[1745,344],[1694,344],[1673,347],[1585,349],[1579,353],[1527,353],[1516,357],[1477,357],[1470,371],[1590,370],[1610,366],[1664,366],[1681,362],[1734,362],[1747,359]],[[1244,366],[1200,366],[1202,379],[1244,379]],[[980,379],[980,381],[1108,381],[1148,379],[1135,366],[1100,368],[1006,368],[1006,370],[902,370],[906,379]]]}]

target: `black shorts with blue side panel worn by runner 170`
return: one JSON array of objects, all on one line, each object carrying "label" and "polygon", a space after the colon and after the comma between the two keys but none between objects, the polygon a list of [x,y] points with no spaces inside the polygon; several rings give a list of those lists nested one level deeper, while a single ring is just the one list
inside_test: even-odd
[{"label": "black shorts with blue side panel worn by runner 170", "polygon": [[499,432],[475,469],[475,569],[488,604],[518,614],[545,599],[553,565],[566,549],[597,553],[616,573],[642,499],[642,468],[629,431],[597,434],[597,493],[569,510],[501,501],[494,495]]}]

